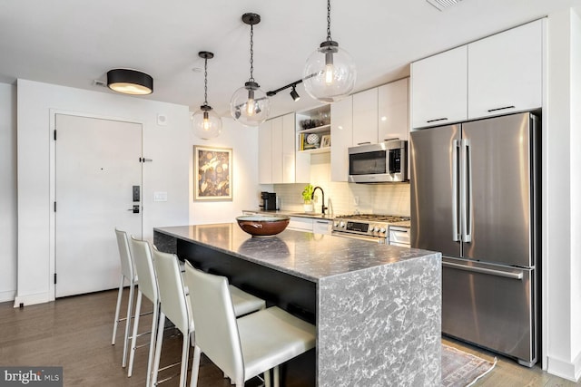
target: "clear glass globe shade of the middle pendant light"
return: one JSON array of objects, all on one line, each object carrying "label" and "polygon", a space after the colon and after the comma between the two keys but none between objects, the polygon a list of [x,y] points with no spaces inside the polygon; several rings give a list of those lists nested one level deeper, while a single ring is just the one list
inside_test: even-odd
[{"label": "clear glass globe shade of the middle pendant light", "polygon": [[244,126],[256,127],[266,121],[271,101],[256,82],[246,82],[230,100],[232,118]]}]

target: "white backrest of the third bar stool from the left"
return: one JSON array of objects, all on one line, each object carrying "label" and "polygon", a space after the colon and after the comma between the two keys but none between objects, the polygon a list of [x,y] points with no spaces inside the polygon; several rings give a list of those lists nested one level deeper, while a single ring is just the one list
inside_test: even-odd
[{"label": "white backrest of the third bar stool from the left", "polygon": [[160,288],[162,313],[182,331],[182,334],[187,334],[190,326],[190,314],[188,313],[178,257],[174,254],[162,253],[154,248],[153,265]]}]

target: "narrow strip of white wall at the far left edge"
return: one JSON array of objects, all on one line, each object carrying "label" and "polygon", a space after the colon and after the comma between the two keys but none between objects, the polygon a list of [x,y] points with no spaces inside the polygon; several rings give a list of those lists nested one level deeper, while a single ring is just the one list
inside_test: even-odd
[{"label": "narrow strip of white wall at the far left edge", "polygon": [[0,303],[16,293],[16,87],[0,83]]}]

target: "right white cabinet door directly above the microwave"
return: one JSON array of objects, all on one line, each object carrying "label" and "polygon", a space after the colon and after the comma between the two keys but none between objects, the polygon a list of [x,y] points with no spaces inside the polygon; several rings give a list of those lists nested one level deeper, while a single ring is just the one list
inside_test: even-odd
[{"label": "right white cabinet door directly above the microwave", "polygon": [[409,138],[409,78],[378,89],[378,141]]}]

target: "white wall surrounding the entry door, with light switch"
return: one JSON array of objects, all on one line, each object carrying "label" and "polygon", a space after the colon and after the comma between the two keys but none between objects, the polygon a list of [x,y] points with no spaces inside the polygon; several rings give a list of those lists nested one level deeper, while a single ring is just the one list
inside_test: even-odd
[{"label": "white wall surrounding the entry door, with light switch", "polygon": [[[143,237],[153,227],[186,224],[192,155],[187,106],[92,92],[53,84],[17,82],[18,290],[15,305],[54,298],[54,213],[51,192],[51,112],[68,111],[143,124]],[[157,115],[167,118],[157,124]],[[153,202],[166,191],[167,202]]]}]

